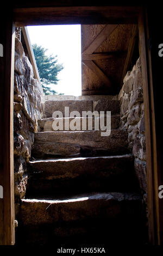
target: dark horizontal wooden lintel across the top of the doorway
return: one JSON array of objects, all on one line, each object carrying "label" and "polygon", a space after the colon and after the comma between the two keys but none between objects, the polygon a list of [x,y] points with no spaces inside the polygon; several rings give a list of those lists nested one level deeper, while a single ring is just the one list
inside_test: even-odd
[{"label": "dark horizontal wooden lintel across the top of the doorway", "polygon": [[[55,2],[54,2],[55,5]],[[66,4],[67,5],[67,4]],[[57,6],[15,8],[17,27],[64,24],[136,24],[140,7]]]}]

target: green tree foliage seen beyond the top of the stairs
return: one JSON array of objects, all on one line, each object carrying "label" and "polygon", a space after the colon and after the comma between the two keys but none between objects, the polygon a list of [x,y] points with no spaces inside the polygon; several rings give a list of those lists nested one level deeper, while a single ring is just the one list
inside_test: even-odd
[{"label": "green tree foliage seen beyond the top of the stairs", "polygon": [[47,49],[34,44],[33,45],[34,56],[36,59],[37,68],[40,75],[40,80],[45,95],[57,94],[55,90],[48,87],[48,84],[57,84],[59,79],[57,78],[58,73],[64,68],[62,64],[58,63],[57,55],[47,56]]}]

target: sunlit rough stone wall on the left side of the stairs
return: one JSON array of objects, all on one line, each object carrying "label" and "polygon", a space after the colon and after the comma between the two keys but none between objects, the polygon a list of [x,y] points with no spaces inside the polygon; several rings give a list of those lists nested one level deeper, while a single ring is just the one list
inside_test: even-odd
[{"label": "sunlit rough stone wall on the left side of the stairs", "polygon": [[37,120],[42,117],[42,87],[34,78],[29,59],[22,44],[15,38],[14,74],[14,173],[15,212],[18,213],[20,199],[26,193],[27,168],[37,131]]}]

